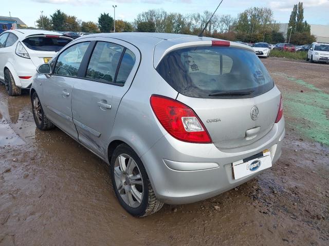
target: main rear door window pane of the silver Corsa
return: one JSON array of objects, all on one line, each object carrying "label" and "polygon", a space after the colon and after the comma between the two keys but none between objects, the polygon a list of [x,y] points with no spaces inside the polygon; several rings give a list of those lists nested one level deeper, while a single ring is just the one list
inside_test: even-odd
[{"label": "main rear door window pane of the silver Corsa", "polygon": [[115,83],[115,75],[123,50],[124,47],[117,44],[97,42],[88,64],[86,77],[104,83]]}]

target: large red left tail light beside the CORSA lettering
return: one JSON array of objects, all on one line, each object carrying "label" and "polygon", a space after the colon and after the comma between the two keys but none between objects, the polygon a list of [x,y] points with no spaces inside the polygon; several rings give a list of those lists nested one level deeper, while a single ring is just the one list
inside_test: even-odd
[{"label": "large red left tail light beside the CORSA lettering", "polygon": [[152,95],[150,104],[162,127],[173,137],[199,144],[212,142],[202,121],[190,107],[160,95]]}]

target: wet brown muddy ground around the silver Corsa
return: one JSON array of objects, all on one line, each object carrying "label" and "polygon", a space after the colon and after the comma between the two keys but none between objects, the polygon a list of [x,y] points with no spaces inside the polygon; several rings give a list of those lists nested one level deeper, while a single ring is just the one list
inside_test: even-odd
[{"label": "wet brown muddy ground around the silver Corsa", "polygon": [[103,161],[58,129],[36,129],[28,94],[1,85],[0,245],[329,245],[329,65],[262,61],[284,97],[280,160],[236,189],[141,219],[120,207]]}]

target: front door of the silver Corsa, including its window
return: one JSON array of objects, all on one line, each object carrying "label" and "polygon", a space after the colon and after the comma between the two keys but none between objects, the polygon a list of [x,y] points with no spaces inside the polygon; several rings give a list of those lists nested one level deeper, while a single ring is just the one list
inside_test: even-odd
[{"label": "front door of the silver Corsa, including its window", "polygon": [[61,52],[52,74],[43,80],[41,99],[47,117],[70,136],[78,139],[72,119],[72,88],[79,81],[78,72],[90,42],[70,46]]}]

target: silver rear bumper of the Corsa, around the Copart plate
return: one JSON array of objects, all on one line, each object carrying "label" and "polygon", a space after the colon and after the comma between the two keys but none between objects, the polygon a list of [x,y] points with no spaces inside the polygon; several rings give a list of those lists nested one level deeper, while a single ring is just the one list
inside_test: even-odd
[{"label": "silver rear bumper of the Corsa, around the Copart plate", "polygon": [[[231,163],[265,149],[272,164],[281,155],[285,135],[284,118],[273,126],[271,137],[264,136],[244,148],[220,150],[213,144],[190,144],[163,136],[141,159],[157,198],[169,204],[191,203],[230,190],[263,171],[234,179]],[[169,160],[169,161],[168,161]]]}]

